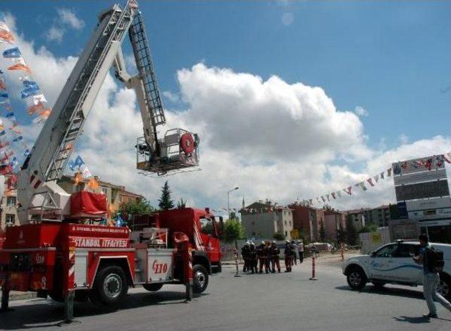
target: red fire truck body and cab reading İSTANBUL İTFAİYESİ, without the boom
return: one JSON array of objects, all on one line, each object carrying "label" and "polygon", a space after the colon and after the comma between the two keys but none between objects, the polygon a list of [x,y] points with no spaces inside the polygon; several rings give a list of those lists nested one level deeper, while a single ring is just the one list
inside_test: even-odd
[{"label": "red fire truck body and cab reading \u0130STANBUL \u0130TFA\u0130YES\u0130, without the boom", "polygon": [[[213,234],[202,232],[206,223]],[[2,308],[10,290],[112,305],[128,287],[183,284],[190,299],[191,287],[204,292],[209,275],[221,271],[220,226],[208,208],[141,216],[132,227],[139,230],[54,222],[8,227],[0,250]]]}]

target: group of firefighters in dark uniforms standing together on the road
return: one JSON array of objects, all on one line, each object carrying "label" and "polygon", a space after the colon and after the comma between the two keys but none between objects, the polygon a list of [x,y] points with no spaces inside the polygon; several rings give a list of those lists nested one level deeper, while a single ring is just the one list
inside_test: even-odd
[{"label": "group of firefighters in dark uniforms standing together on the road", "polygon": [[[297,256],[299,263],[304,260],[304,244],[298,240],[287,240],[283,250],[285,254],[285,273],[290,273],[293,264],[297,264]],[[245,262],[243,272],[251,273],[280,273],[280,248],[276,242],[261,242],[259,246],[255,246],[254,242],[246,242],[241,249],[241,255]],[[258,268],[257,268],[258,267]]]}]

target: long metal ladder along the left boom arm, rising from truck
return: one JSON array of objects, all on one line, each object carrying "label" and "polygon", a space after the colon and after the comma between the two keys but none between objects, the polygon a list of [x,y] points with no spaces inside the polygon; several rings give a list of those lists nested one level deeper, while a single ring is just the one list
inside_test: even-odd
[{"label": "long metal ladder along the left boom arm, rising from truck", "polygon": [[[116,56],[117,49],[112,50],[112,45],[117,43],[120,46],[125,32],[130,27],[132,17],[132,10],[128,6],[123,10],[115,6],[108,23],[106,23],[91,54],[89,54],[89,58],[83,63],[84,67],[75,82],[75,87],[70,92],[67,102],[61,110],[61,115],[58,117],[56,129],[64,132],[64,135],[57,147],[58,150],[53,154],[53,158],[47,167],[45,173],[46,181],[56,180],[63,175],[63,170],[66,167],[75,141],[81,133],[87,113],[89,113],[101,83],[104,81],[104,76],[111,68],[113,58]],[[99,77],[101,72],[103,77]],[[98,77],[100,81],[96,82]],[[92,89],[95,90],[92,91]]]}]

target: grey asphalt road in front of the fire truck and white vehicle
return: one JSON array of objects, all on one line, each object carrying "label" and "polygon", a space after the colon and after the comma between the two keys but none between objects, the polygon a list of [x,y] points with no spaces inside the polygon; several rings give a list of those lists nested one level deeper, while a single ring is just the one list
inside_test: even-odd
[{"label": "grey asphalt road in front of the fire truck and white vehicle", "polygon": [[210,278],[208,289],[185,303],[185,288],[159,292],[132,289],[116,311],[75,305],[75,321],[61,325],[63,306],[46,299],[11,301],[0,330],[451,330],[451,313],[438,306],[426,320],[421,287],[388,286],[363,292],[347,287],[338,263],[319,259],[319,280],[309,280],[311,262],[292,273],[233,277],[235,269]]}]

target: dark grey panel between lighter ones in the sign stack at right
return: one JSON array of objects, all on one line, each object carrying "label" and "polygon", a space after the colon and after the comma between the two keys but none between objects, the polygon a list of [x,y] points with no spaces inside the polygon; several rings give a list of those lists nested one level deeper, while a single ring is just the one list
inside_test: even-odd
[{"label": "dark grey panel between lighter ones in the sign stack at right", "polygon": [[434,182],[395,186],[395,193],[397,201],[406,201],[433,198],[435,196],[449,196],[450,189],[447,180],[435,180]]}]

